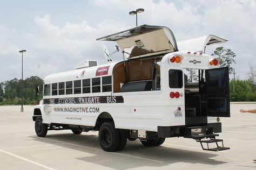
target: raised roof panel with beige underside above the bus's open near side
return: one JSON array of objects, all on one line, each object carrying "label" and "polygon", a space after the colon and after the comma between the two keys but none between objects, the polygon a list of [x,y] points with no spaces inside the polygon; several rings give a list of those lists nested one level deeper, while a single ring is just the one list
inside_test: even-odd
[{"label": "raised roof panel with beige underside above the bus's open near side", "polygon": [[142,25],[97,40],[116,41],[122,51],[129,49],[130,59],[178,51],[172,31],[165,26]]}]

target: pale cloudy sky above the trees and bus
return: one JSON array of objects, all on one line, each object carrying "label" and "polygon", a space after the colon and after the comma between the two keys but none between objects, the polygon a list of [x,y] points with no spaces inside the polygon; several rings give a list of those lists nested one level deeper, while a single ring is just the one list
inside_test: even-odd
[{"label": "pale cloudy sky above the trees and bus", "polygon": [[[224,46],[237,54],[233,65],[240,79],[256,63],[256,2],[244,1],[3,1],[0,0],[0,82],[74,69],[87,59],[104,63],[97,38],[135,26],[129,11],[144,8],[138,25],[169,27],[177,41],[214,34],[229,41]],[[104,42],[114,51],[113,42]],[[206,53],[212,53],[208,48]],[[120,53],[113,60],[122,60]]]}]

